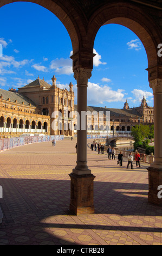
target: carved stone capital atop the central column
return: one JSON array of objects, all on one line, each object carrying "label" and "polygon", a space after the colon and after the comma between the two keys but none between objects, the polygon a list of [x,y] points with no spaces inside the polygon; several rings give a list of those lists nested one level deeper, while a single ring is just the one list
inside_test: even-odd
[{"label": "carved stone capital atop the central column", "polygon": [[77,68],[74,70],[74,78],[77,86],[87,86],[88,79],[92,76],[92,69]]}]

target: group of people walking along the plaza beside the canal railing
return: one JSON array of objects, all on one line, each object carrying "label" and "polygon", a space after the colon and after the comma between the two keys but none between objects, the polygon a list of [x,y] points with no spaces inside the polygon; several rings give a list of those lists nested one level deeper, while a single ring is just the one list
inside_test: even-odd
[{"label": "group of people walking along the plaza beside the canal railing", "polygon": [[[93,150],[96,151],[96,149],[98,148],[98,154],[100,154],[100,150],[101,150],[101,154],[103,154],[103,151],[105,149],[104,145],[103,144],[91,144],[90,145],[90,148]],[[108,147],[107,149],[107,154],[108,154],[108,159],[115,159],[115,154],[116,154],[116,151],[114,148],[112,148],[111,146]],[[123,160],[123,154],[122,152],[120,151],[120,153],[118,154],[118,164],[119,166],[122,166],[122,160]],[[129,164],[131,164],[131,169],[133,170],[133,155],[132,155],[132,152],[129,153],[128,157],[127,157],[127,168],[129,167]],[[136,162],[136,166],[140,167],[140,154],[138,153],[138,151],[135,152],[135,162]]]}]

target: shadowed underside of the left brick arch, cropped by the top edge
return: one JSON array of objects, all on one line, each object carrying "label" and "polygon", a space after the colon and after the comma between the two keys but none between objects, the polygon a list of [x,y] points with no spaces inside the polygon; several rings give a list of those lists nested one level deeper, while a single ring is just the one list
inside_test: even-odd
[{"label": "shadowed underside of the left brick arch, cropped by the top edge", "polygon": [[[70,36],[72,41],[73,52],[79,50],[79,29],[78,26],[75,24],[74,21],[75,17],[78,16],[77,9],[74,9],[73,5],[70,5],[68,1],[64,1],[64,3],[56,4],[52,0],[2,0],[0,3],[0,8],[3,7],[5,4],[10,4],[14,2],[30,2],[41,5],[42,7],[48,9],[57,16],[57,18],[63,23],[64,27],[66,27],[67,32]],[[66,6],[67,5],[67,6]],[[80,22],[81,19],[80,19]]]}]

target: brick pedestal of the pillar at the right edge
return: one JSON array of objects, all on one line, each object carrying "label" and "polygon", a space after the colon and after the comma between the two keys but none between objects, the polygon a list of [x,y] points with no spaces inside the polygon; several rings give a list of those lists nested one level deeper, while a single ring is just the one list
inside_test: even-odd
[{"label": "brick pedestal of the pillar at the right edge", "polygon": [[[162,169],[148,167],[148,202],[162,206]],[[158,193],[160,192],[160,193]],[[161,198],[160,198],[161,197]]]}]

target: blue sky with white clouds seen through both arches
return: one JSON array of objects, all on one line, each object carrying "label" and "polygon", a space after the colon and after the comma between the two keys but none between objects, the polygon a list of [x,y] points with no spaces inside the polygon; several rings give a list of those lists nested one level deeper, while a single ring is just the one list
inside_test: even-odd
[{"label": "blue sky with white clouds seen through both arches", "polygon": [[[0,8],[0,88],[20,88],[39,76],[51,84],[53,75],[60,88],[74,84],[72,43],[66,28],[49,10],[27,2]],[[94,68],[88,82],[89,106],[123,108],[140,105],[145,95],[153,106],[148,84],[147,55],[132,31],[120,25],[100,28],[94,42]]]}]

